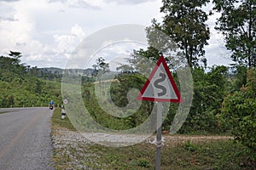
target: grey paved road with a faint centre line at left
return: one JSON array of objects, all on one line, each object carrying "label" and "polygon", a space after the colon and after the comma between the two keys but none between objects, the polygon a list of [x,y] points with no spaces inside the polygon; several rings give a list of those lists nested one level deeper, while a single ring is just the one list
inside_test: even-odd
[{"label": "grey paved road with a faint centre line at left", "polygon": [[49,108],[0,109],[0,170],[54,169],[51,116]]}]

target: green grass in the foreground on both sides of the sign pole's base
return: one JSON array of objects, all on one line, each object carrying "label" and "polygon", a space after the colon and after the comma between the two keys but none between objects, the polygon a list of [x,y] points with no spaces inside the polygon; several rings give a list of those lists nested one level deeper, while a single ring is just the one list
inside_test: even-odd
[{"label": "green grass in the foreground on both sides of the sign pole's base", "polygon": [[[152,144],[135,144],[124,148],[94,144],[84,152],[87,150],[96,154],[86,162],[93,169],[154,169],[155,146]],[[166,170],[253,169],[250,162],[246,161],[247,155],[243,152],[242,146],[230,140],[163,147],[161,154],[161,169]]]}]

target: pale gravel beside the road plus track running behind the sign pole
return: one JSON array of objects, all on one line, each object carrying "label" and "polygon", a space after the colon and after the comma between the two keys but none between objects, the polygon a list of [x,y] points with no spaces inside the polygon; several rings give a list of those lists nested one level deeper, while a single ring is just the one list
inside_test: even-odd
[{"label": "pale gravel beside the road plus track running behind the sign pole", "polygon": [[[91,139],[97,143],[103,142],[119,142],[126,143],[131,145],[131,143],[137,141],[137,139],[144,138],[140,135],[113,135],[108,133],[88,133],[84,134],[90,136]],[[101,137],[101,138],[99,138]],[[126,138],[125,138],[126,137]],[[180,144],[184,144],[188,141],[191,143],[207,143],[218,140],[227,140],[233,139],[230,136],[198,136],[198,135],[169,135],[163,134],[164,137],[164,147],[175,147]],[[100,140],[102,139],[102,141]],[[150,136],[148,139],[144,140],[140,144],[149,144],[151,148],[154,148],[155,135]],[[98,154],[95,150],[91,151],[91,147],[95,144],[90,140],[84,138],[84,136],[77,131],[68,130],[65,127],[55,127],[55,130],[52,132],[52,141],[55,150],[55,161],[61,160],[61,165],[56,165],[56,169],[90,169],[86,165],[96,165],[97,162],[94,160],[94,157],[97,157]],[[99,146],[98,146],[99,147]],[[101,152],[99,150],[99,152]],[[103,168],[104,169],[104,168]]]}]

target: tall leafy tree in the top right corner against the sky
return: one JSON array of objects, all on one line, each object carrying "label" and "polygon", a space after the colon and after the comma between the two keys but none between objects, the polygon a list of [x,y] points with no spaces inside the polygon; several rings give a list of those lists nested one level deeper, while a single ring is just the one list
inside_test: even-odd
[{"label": "tall leafy tree in the top right corner against the sky", "polygon": [[215,9],[221,12],[218,31],[222,32],[231,58],[241,65],[256,66],[256,1],[213,0]]}]

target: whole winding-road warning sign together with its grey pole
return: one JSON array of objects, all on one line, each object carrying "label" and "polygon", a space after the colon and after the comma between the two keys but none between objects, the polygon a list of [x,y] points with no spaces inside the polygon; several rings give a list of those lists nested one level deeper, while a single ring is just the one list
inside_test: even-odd
[{"label": "whole winding-road warning sign together with its grey pole", "polygon": [[160,56],[160,59],[154,66],[154,70],[144,84],[141,93],[137,96],[137,100],[149,100],[157,103],[155,169],[160,170],[160,150],[163,145],[161,137],[163,102],[182,102],[172,74],[166,65],[164,56]]}]

